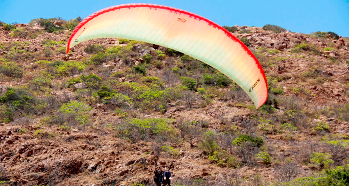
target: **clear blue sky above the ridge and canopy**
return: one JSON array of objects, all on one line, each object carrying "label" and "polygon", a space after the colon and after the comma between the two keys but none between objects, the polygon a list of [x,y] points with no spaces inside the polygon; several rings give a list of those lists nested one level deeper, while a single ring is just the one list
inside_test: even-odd
[{"label": "clear blue sky above the ridge and canopy", "polygon": [[222,26],[274,24],[292,32],[332,31],[349,37],[349,0],[0,0],[0,21],[28,23],[40,17],[85,18],[97,10],[125,3],[184,9]]}]

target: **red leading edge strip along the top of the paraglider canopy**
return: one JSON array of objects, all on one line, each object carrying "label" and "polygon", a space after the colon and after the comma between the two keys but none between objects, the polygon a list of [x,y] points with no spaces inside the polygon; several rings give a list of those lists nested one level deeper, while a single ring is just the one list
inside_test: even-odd
[{"label": "red leading edge strip along the top of the paraglider canopy", "polygon": [[224,31],[225,35],[227,35],[229,38],[231,38],[232,40],[236,41],[236,42],[239,42],[241,44],[241,46],[243,47],[243,49],[248,53],[248,55],[250,55],[251,57],[253,57],[253,59],[255,60],[256,64],[258,65],[258,69],[259,71],[262,73],[263,75],[263,78],[265,80],[265,84],[266,84],[266,87],[267,87],[267,96],[266,96],[266,99],[265,101],[263,102],[263,104],[267,101],[268,99],[268,84],[267,84],[267,78],[264,74],[264,71],[262,69],[262,66],[259,64],[258,60],[256,59],[256,57],[252,54],[252,52],[250,51],[250,49],[247,48],[247,46],[245,46],[245,44],[243,42],[241,42],[239,39],[237,39],[233,34],[231,34],[228,30],[224,29],[222,26],[214,23],[213,21],[210,21],[208,20],[207,18],[205,17],[202,17],[202,16],[199,16],[197,14],[194,14],[194,13],[191,13],[191,12],[188,12],[188,11],[185,11],[185,10],[181,10],[181,9],[178,9],[178,8],[172,8],[172,7],[168,7],[168,6],[163,6],[163,5],[154,5],[154,4],[142,4],[142,3],[132,3],[132,4],[124,4],[124,5],[116,5],[116,6],[112,6],[112,7],[109,7],[109,8],[104,8],[102,10],[98,10],[96,11],[95,13],[89,15],[88,17],[84,18],[84,20],[82,20],[76,27],[75,29],[73,30],[73,33],[72,35],[70,36],[69,38],[69,41],[68,41],[68,45],[67,45],[67,54],[69,53],[69,50],[70,50],[70,41],[72,40],[72,38],[74,37],[74,35],[76,34],[77,31],[79,31],[80,28],[82,28],[86,23],[88,23],[90,20],[92,20],[93,18],[101,15],[101,14],[104,14],[104,13],[107,13],[107,12],[110,12],[110,11],[113,11],[113,10],[117,10],[117,9],[122,9],[122,8],[138,8],[138,7],[148,7],[148,8],[159,8],[159,9],[165,9],[165,10],[169,10],[169,11],[175,11],[175,12],[178,12],[180,14],[186,14],[190,17],[193,17],[195,19],[198,19],[198,20],[202,20],[202,21],[205,21],[208,23],[208,25],[214,27],[214,28],[217,28],[217,29],[220,29],[222,31]]}]

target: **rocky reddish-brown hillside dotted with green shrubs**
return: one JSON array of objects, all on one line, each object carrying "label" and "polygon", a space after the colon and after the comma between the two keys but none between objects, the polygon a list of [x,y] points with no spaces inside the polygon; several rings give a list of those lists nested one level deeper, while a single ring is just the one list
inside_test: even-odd
[{"label": "rocky reddish-brown hillside dotted with green shrubs", "polygon": [[331,185],[349,169],[348,38],[225,27],[267,76],[255,109],[169,48],[96,39],[66,55],[78,22],[0,22],[0,185],[155,185],[155,159],[174,186]]}]

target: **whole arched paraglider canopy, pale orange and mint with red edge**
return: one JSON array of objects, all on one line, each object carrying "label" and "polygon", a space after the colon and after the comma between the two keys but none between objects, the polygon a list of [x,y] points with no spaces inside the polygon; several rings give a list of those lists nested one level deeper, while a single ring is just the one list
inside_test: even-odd
[{"label": "whole arched paraglider canopy, pale orange and mint with red edge", "polygon": [[205,17],[153,4],[105,8],[76,26],[67,53],[80,42],[96,38],[131,39],[172,48],[224,73],[257,108],[267,100],[267,80],[258,60],[229,31]]}]

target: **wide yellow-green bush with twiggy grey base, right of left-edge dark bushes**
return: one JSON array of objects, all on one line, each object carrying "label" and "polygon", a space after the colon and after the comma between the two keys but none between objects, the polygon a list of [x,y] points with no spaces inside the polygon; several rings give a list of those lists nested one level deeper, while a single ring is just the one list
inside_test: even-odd
[{"label": "wide yellow-green bush with twiggy grey base, right of left-edge dark bushes", "polygon": [[80,124],[85,127],[89,123],[88,112],[92,108],[80,101],[70,101],[63,104],[57,111],[59,113],[60,124],[74,126]]}]

